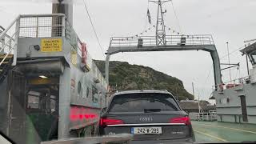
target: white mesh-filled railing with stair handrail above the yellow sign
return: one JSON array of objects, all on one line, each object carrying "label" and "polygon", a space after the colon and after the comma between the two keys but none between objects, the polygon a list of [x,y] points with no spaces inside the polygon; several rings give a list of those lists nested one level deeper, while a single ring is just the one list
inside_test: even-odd
[{"label": "white mesh-filled railing with stair handrail above the yellow sign", "polygon": [[0,54],[5,55],[0,66],[10,54],[14,54],[12,65],[16,65],[18,38],[64,37],[65,22],[65,14],[19,15],[0,34]]}]

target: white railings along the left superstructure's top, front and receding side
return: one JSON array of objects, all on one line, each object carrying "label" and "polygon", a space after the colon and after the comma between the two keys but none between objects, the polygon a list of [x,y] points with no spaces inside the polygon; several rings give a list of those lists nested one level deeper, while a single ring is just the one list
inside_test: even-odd
[{"label": "white railings along the left superstructure's top, front and receding side", "polygon": [[[24,14],[15,18],[2,33],[0,30],[0,54],[5,54],[0,66],[9,54],[14,54],[13,66],[16,65],[18,38],[50,37],[66,37],[70,44],[76,48],[78,55],[82,57],[82,42],[70,22],[66,21],[65,14]],[[95,65],[92,63],[94,62],[90,62],[91,66]],[[106,86],[96,65],[94,70],[96,71],[94,77],[101,80]]]}]

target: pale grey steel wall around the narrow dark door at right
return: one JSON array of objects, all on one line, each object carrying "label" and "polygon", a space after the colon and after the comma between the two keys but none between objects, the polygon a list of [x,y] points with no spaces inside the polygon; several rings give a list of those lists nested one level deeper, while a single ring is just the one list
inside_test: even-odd
[{"label": "pale grey steel wall around the narrow dark door at right", "polygon": [[[247,123],[256,124],[256,85],[243,84],[234,88],[223,90],[222,93],[214,91],[214,98],[216,100],[218,121],[222,122],[242,122],[242,108],[241,99],[239,96],[246,97],[246,110],[248,115]],[[229,98],[229,102],[225,99]]]}]

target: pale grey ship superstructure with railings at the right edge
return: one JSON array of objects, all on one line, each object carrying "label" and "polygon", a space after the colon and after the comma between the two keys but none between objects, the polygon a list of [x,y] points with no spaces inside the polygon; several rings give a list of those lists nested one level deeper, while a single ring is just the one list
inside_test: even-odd
[{"label": "pale grey ship superstructure with railings at the right edge", "polygon": [[[213,96],[219,122],[256,123],[256,43],[240,50],[250,58],[253,68],[248,76],[223,82]],[[216,86],[214,86],[216,87]]]}]

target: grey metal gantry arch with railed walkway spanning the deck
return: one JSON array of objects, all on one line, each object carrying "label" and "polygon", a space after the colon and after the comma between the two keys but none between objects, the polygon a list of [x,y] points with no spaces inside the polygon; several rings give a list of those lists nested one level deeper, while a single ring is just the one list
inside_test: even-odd
[{"label": "grey metal gantry arch with railed walkway spanning the deck", "polygon": [[177,51],[177,50],[204,50],[210,52],[214,66],[215,90],[222,83],[222,74],[218,51],[211,35],[166,35],[166,44],[156,46],[155,36],[146,37],[113,37],[106,52],[106,83],[109,84],[110,56],[120,52],[146,52],[146,51]]}]

